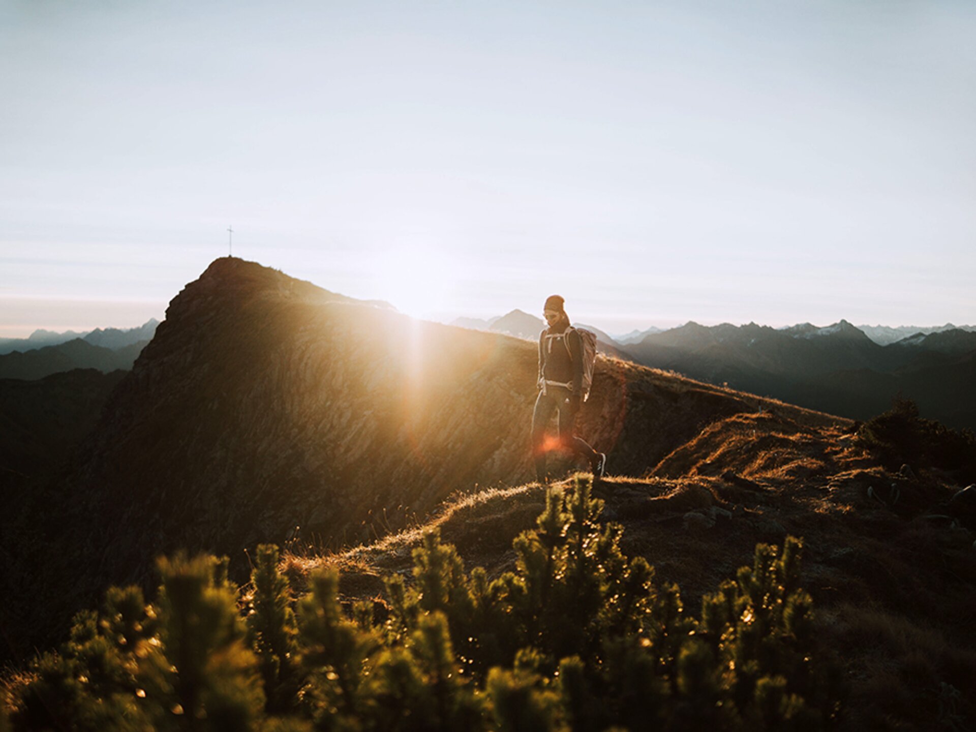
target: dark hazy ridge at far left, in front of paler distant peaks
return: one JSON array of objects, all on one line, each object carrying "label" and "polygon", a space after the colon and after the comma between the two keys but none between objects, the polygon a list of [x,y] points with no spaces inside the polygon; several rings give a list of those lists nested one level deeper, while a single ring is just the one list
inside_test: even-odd
[{"label": "dark hazy ridge at far left, in front of paler distant peaks", "polygon": [[44,346],[24,353],[0,355],[0,379],[43,379],[71,369],[98,369],[102,373],[132,368],[147,341],[117,349],[92,344],[80,338]]}]

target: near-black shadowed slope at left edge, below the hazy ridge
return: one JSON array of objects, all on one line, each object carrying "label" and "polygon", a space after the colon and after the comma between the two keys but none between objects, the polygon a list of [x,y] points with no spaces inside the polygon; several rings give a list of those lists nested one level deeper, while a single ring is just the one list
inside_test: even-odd
[{"label": "near-black shadowed slope at left edge, below the hazy ridge", "polygon": [[60,480],[45,485],[63,473],[124,376],[75,369],[0,380],[0,661],[22,657],[72,606],[82,607],[77,567],[65,567],[61,555],[79,550],[72,537],[93,516],[85,497],[64,496]]}]

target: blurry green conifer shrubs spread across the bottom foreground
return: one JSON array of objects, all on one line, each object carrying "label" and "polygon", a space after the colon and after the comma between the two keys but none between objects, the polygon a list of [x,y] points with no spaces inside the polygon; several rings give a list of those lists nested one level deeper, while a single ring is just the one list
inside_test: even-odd
[{"label": "blurry green conifer shrubs spread across the bottom foreground", "polygon": [[620,550],[581,480],[550,491],[519,536],[517,569],[489,581],[428,533],[414,581],[387,578],[390,612],[346,614],[335,571],[293,612],[263,547],[247,617],[225,564],[159,562],[149,605],[109,590],[18,694],[15,730],[822,729],[840,690],[817,662],[800,542],[760,545],[752,567],[686,614],[676,586]]}]

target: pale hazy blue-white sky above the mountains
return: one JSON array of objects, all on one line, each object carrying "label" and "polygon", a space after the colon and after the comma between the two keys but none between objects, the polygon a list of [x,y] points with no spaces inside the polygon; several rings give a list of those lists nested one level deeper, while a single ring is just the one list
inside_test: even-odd
[{"label": "pale hazy blue-white sky above the mountains", "polygon": [[0,0],[0,336],[227,252],[611,333],[976,323],[976,3]]}]

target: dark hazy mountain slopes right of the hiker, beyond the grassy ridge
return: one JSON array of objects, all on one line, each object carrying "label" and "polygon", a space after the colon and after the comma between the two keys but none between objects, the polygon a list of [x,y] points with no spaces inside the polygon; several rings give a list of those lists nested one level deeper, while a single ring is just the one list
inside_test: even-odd
[{"label": "dark hazy mountain slopes right of the hiker, beyond the grassy ridge", "polygon": [[626,350],[638,363],[770,394],[854,419],[884,411],[899,392],[931,419],[976,427],[970,356],[976,334],[950,330],[878,346],[845,320],[774,330],[754,323],[688,323]]}]

